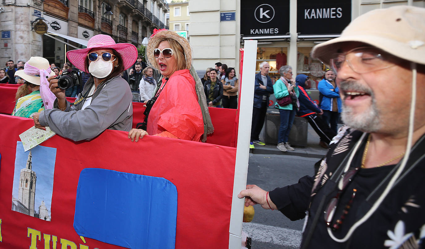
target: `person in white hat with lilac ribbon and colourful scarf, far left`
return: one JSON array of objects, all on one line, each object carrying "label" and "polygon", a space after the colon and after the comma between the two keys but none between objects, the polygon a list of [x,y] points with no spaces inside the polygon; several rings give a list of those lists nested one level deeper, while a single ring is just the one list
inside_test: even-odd
[{"label": "person in white hat with lilac ribbon and colourful scarf, far left", "polygon": [[[42,78],[41,75],[44,77]],[[31,57],[24,65],[24,70],[15,71],[15,76],[24,79],[25,84],[21,85],[16,92],[16,105],[13,109],[12,116],[32,118],[34,113],[38,113],[45,109],[45,103],[48,97],[45,92],[50,94],[47,87],[40,89],[40,79],[47,83],[45,76],[55,75],[50,69],[47,59],[43,57]],[[40,91],[45,91],[41,93]]]}]

